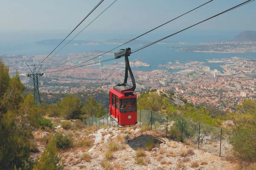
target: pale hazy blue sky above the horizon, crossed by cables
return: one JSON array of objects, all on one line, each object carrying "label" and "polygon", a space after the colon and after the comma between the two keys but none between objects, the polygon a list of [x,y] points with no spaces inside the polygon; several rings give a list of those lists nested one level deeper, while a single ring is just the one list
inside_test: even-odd
[{"label": "pale hazy blue sky above the horizon, crossed by cables", "polygon": [[[74,34],[87,26],[113,1],[104,0]],[[169,31],[186,28],[244,1],[214,0],[151,34],[168,34]],[[83,39],[86,33],[115,33],[120,36],[140,34],[206,2],[207,0],[117,0],[86,28],[78,39]],[[2,38],[17,38],[16,34],[25,32],[61,38],[73,30],[97,3],[99,0],[0,0],[0,36],[9,33],[10,37]],[[227,34],[232,31],[256,31],[255,8],[256,1],[202,23],[192,30],[201,34],[218,31]],[[190,32],[187,31],[188,33]]]}]

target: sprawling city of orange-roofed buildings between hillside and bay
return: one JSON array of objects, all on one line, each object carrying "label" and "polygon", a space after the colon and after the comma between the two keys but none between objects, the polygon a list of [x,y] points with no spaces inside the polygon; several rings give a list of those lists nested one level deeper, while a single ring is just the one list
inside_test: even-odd
[{"label": "sprawling city of orange-roofed buildings between hillside and bay", "polygon": [[[53,58],[50,65],[43,65],[41,69],[45,76],[40,79],[39,91],[76,93],[87,90],[103,90],[108,93],[113,85],[123,82],[124,62],[114,62],[112,65],[97,64],[51,73],[79,64],[101,53],[102,51],[90,51],[59,55],[57,58]],[[111,54],[113,55],[113,53],[107,55]],[[23,84],[32,88],[32,81],[26,77],[29,72],[26,65],[37,62],[45,56],[3,55],[1,57],[6,64],[10,65],[10,73],[14,74],[17,69]],[[91,63],[96,61],[98,60],[93,60]],[[216,69],[212,71],[209,66],[204,65],[204,62],[196,61],[168,62],[166,65],[158,65],[166,68],[163,70],[139,71],[136,70],[136,67],[150,67],[150,65],[138,60],[131,61],[134,77],[137,80],[136,91],[159,89],[173,92],[175,96],[182,96],[194,105],[215,106],[223,111],[234,111],[243,99],[256,97],[255,59],[232,57],[206,61],[221,63],[223,71]],[[173,70],[177,70],[177,72]]]}]

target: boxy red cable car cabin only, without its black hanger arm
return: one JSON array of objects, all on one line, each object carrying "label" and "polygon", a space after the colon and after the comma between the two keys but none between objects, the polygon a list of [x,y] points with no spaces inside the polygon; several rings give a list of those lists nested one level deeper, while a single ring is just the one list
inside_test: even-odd
[{"label": "boxy red cable car cabin only, without its black hanger arm", "polygon": [[114,88],[109,90],[109,113],[119,127],[134,126],[137,122],[137,95],[133,91],[120,93]]}]

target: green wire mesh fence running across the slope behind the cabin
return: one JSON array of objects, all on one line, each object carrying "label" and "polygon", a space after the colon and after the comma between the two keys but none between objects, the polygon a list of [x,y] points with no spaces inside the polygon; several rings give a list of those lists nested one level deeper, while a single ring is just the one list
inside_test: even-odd
[{"label": "green wire mesh fence running across the slope behind the cabin", "polygon": [[[137,111],[137,127],[150,126],[159,134],[177,142],[191,144],[195,148],[205,150],[219,156],[227,156],[231,145],[228,142],[231,130],[221,129],[195,123],[177,116],[167,116],[154,111]],[[100,118],[90,117],[86,125],[96,127],[113,127],[117,122],[110,119],[108,114]]]}]

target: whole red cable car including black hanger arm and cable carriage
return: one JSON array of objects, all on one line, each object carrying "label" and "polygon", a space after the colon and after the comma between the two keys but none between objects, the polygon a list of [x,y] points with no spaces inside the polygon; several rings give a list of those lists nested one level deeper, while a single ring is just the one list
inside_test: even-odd
[{"label": "whole red cable car including black hanger arm and cable carriage", "polygon": [[[121,85],[115,85],[109,90],[109,115],[111,120],[117,122],[118,127],[129,127],[137,122],[137,95],[134,94],[136,83],[131,71],[128,56],[131,48],[121,49],[115,53],[115,58],[125,56],[125,80]],[[128,71],[131,76],[132,86],[127,84]]]}]

